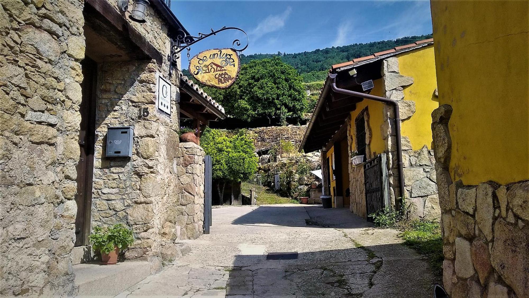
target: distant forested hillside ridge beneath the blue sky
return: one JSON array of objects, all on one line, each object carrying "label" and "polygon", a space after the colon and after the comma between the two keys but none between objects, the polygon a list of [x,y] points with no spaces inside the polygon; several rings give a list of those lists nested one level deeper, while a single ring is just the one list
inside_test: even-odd
[{"label": "distant forested hillside ridge beneath the blue sky", "polygon": [[[276,54],[252,54],[241,55],[241,63],[247,64],[251,60],[259,60],[280,56],[281,60],[297,69],[303,77],[305,83],[324,81],[329,68],[333,64],[351,61],[371,55],[375,52],[388,50],[394,47],[407,45],[417,40],[431,38],[431,35],[408,36],[396,40],[382,40],[368,43],[353,43],[349,46],[316,49],[313,51],[286,54],[277,52]],[[189,75],[186,71],[184,74]]]}]

